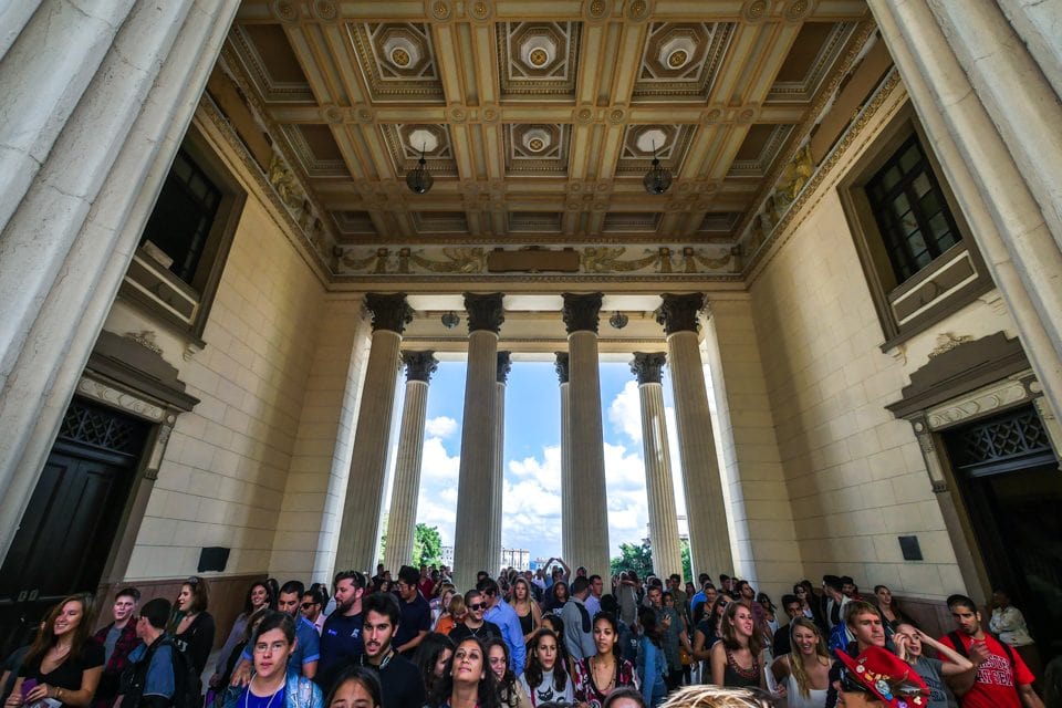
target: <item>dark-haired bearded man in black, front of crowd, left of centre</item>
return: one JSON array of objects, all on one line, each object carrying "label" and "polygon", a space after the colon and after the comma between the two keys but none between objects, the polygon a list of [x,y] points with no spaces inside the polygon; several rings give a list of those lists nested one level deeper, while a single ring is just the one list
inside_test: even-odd
[{"label": "dark-haired bearded man in black, front of crowd, left of centre", "polygon": [[[414,572],[416,572],[414,570]],[[398,601],[391,593],[373,593],[364,603],[363,638],[365,654],[362,666],[379,674],[384,706],[423,706],[424,679],[409,659],[392,646],[392,639],[402,621]]]}]

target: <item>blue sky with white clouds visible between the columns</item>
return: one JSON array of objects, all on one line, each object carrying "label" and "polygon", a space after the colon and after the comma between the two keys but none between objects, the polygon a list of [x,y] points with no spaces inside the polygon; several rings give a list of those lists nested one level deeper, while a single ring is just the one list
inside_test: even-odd
[{"label": "blue sky with white clouds visible between the columns", "polygon": [[[417,521],[454,541],[457,481],[465,403],[464,362],[442,362],[428,389],[424,462]],[[647,534],[638,388],[626,363],[601,364],[602,423],[612,554],[622,542]],[[404,382],[404,378],[403,378]],[[399,385],[399,392],[404,385]],[[664,399],[678,514],[685,514],[670,382],[665,368]],[[399,402],[396,406],[400,414]],[[531,559],[561,553],[560,387],[551,362],[514,362],[506,395],[502,544],[528,549]],[[392,464],[394,450],[392,450]],[[385,506],[385,508],[387,508]],[[685,531],[685,523],[681,524]]]}]

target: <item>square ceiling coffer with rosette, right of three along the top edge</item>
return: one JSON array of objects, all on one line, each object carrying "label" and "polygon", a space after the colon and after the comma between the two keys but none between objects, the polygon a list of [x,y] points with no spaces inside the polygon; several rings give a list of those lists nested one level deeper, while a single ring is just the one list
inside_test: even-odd
[{"label": "square ceiling coffer with rosette, right of three along the top edge", "polygon": [[650,25],[634,85],[635,102],[704,101],[722,65],[733,23]]}]

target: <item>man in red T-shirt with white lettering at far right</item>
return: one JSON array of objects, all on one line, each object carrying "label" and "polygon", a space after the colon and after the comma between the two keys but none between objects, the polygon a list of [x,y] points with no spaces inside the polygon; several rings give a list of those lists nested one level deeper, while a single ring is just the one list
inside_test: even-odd
[{"label": "man in red T-shirt with white lettering at far right", "polygon": [[957,631],[940,637],[940,642],[974,663],[974,669],[960,674],[951,687],[962,708],[1043,708],[1032,689],[1032,671],[1017,652],[985,633],[974,601],[951,595],[948,610]]}]

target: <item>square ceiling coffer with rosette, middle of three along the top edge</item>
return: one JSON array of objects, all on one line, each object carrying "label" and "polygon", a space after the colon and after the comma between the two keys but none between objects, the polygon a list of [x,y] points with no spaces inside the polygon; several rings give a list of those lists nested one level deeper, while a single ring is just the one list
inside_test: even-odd
[{"label": "square ceiling coffer with rosette, middle of three along the top edge", "polygon": [[580,22],[501,22],[498,60],[502,98],[575,97]]}]

